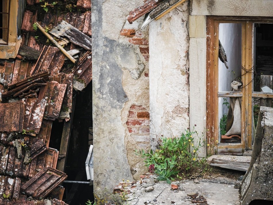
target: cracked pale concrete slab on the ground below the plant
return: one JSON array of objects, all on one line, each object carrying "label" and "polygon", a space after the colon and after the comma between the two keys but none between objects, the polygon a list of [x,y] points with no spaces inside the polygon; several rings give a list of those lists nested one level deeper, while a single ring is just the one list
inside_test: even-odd
[{"label": "cracked pale concrete slab on the ground below the plant", "polygon": [[[178,190],[171,190],[171,185],[165,181],[154,182],[155,179],[143,179],[143,183],[136,183],[136,188],[131,189],[129,194],[129,205],[136,204],[164,204],[164,205],[184,205],[184,204],[195,204],[191,202],[191,197],[187,194],[198,193],[202,195],[206,200],[207,204],[225,204],[234,205],[240,204],[239,202],[239,189],[234,188],[234,181],[227,179],[227,183],[218,182],[215,179],[214,182],[204,182],[185,180],[177,182]],[[224,180],[225,181],[225,180]],[[145,184],[152,184],[154,187],[153,191],[145,192]],[[143,187],[144,185],[144,187]],[[197,197],[199,197],[197,196]]]}]

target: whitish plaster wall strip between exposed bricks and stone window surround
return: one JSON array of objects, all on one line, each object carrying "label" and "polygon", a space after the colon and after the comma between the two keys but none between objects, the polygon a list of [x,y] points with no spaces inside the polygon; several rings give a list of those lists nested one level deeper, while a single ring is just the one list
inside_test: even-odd
[{"label": "whitish plaster wall strip between exposed bricks and stone window surround", "polygon": [[150,132],[178,137],[189,127],[188,1],[150,23]]}]

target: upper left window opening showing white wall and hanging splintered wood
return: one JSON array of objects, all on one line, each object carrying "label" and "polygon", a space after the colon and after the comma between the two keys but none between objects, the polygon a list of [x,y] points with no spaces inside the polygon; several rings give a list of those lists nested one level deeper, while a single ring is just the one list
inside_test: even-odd
[{"label": "upper left window opening showing white wall and hanging splintered wood", "polygon": [[232,91],[232,81],[241,79],[241,47],[242,24],[219,24],[218,91]]}]

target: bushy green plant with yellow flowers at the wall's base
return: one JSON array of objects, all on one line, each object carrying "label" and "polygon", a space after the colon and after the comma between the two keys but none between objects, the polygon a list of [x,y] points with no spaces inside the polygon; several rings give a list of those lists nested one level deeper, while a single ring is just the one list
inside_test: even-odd
[{"label": "bushy green plant with yellow flowers at the wall's base", "polygon": [[[193,139],[193,134],[196,134]],[[195,131],[185,129],[180,138],[161,138],[158,140],[159,149],[150,150],[145,152],[139,150],[139,154],[142,158],[145,158],[145,165],[150,169],[154,169],[154,173],[159,175],[157,177],[160,181],[171,181],[176,178],[182,178],[181,176],[189,175],[194,172],[202,172],[205,166],[205,160],[198,160],[198,149],[204,146],[203,140],[204,133],[199,137]],[[195,143],[194,143],[195,141]],[[151,166],[153,165],[153,166]]]}]

